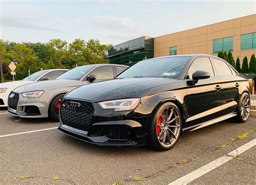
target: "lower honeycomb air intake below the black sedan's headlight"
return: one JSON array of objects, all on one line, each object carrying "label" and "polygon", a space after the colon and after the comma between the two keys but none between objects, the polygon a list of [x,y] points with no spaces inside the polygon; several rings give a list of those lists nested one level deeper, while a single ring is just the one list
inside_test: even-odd
[{"label": "lower honeycomb air intake below the black sedan's headlight", "polygon": [[124,125],[107,126],[105,135],[109,139],[129,140],[130,129]]}]

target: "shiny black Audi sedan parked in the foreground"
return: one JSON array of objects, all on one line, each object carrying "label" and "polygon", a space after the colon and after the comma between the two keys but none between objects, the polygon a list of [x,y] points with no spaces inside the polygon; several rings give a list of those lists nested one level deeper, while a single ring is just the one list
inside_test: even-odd
[{"label": "shiny black Audi sedan parked in the foreground", "polygon": [[59,112],[58,130],[77,139],[167,150],[182,132],[232,117],[245,122],[249,82],[218,57],[153,58],[113,80],[76,88],[66,94]]}]

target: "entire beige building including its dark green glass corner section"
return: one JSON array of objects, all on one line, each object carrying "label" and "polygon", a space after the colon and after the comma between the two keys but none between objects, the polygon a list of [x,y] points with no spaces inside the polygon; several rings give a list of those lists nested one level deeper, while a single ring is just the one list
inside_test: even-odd
[{"label": "entire beige building including its dark green glass corner section", "polygon": [[159,37],[140,37],[109,49],[109,63],[131,65],[174,54],[231,51],[236,60],[256,54],[256,14]]}]

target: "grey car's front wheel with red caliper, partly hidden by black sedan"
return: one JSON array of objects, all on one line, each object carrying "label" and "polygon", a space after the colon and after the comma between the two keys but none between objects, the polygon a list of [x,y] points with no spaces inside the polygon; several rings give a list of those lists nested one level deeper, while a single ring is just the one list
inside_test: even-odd
[{"label": "grey car's front wheel with red caliper, partly hidden by black sedan", "polygon": [[59,94],[55,98],[52,99],[51,104],[49,106],[49,118],[55,121],[59,121],[59,106],[65,94]]}]

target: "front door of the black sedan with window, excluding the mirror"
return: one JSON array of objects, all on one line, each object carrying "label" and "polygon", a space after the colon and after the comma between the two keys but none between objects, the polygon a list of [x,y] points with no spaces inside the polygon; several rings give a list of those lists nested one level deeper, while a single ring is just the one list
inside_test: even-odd
[{"label": "front door of the black sedan with window, excluding the mirror", "polygon": [[[198,80],[196,85],[190,85],[192,74],[198,70],[209,72],[211,77]],[[187,97],[185,98],[186,129],[219,117],[221,111],[221,83],[219,77],[214,74],[209,57],[200,57],[193,61],[185,82],[187,84]]]}]

